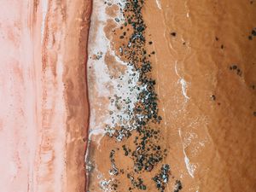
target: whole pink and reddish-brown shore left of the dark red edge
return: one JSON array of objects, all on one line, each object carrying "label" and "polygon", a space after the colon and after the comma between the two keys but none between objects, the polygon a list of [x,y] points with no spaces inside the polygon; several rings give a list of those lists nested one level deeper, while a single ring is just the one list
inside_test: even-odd
[{"label": "whole pink and reddish-brown shore left of the dark red edge", "polygon": [[2,4],[0,190],[84,191],[90,1]]}]

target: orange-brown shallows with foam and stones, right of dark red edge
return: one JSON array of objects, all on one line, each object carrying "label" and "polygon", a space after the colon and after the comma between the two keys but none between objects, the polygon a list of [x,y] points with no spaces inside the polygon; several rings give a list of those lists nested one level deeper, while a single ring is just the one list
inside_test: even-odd
[{"label": "orange-brown shallows with foam and stones, right of dark red edge", "polygon": [[[147,26],[142,30],[135,15],[129,24],[130,12],[119,11],[125,9],[121,1],[94,1],[87,66],[90,191],[256,189],[255,5],[145,1],[131,10],[131,15],[142,15]],[[143,47],[131,43],[132,34],[146,39]],[[150,73],[145,72],[148,67],[132,62],[129,45],[136,45],[137,58],[146,55]],[[114,67],[109,66],[109,53]],[[139,76],[156,84],[150,90],[146,84],[143,90]],[[158,117],[137,119],[137,103],[148,106],[147,96],[140,97],[142,91],[157,94],[154,113],[160,116],[159,124]],[[146,131],[159,131],[157,138],[140,137],[144,133],[137,123]],[[136,137],[148,152],[138,149],[145,145]],[[154,149],[156,144],[159,149]],[[148,155],[155,154],[161,159],[145,164]],[[137,170],[138,165],[143,168]]]}]

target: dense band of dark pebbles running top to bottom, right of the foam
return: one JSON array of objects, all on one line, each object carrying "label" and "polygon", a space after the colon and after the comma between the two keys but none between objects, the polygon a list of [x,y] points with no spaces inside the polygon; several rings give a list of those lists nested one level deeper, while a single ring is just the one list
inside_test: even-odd
[{"label": "dense band of dark pebbles running top to bottom, right of the foam", "polygon": [[[143,21],[143,4],[144,0],[126,1],[125,8],[121,10],[125,22],[123,26],[120,26],[120,29],[125,31],[127,28],[131,28],[132,33],[127,38],[126,32],[123,32],[119,36],[119,39],[124,40],[124,38],[127,38],[128,42],[123,44],[120,50],[122,53],[125,53],[124,56],[125,60],[128,61],[128,65],[134,67],[136,72],[139,73],[137,84],[140,84],[140,87],[144,87],[145,89],[141,90],[137,96],[136,107],[133,109],[133,114],[135,115],[131,116],[131,120],[135,122],[133,123],[135,128],[126,129],[125,127],[120,127],[110,136],[113,138],[118,138],[120,134],[124,135],[125,138],[129,138],[132,135],[135,136],[133,147],[136,149],[131,149],[125,144],[122,146],[124,157],[128,157],[133,161],[133,170],[131,174],[127,174],[127,179],[131,182],[129,191],[133,189],[147,190],[147,186],[143,182],[143,173],[156,169],[156,166],[163,163],[167,154],[167,149],[159,145],[160,129],[158,127],[162,118],[159,115],[158,98],[155,93],[155,80],[151,77],[151,61],[148,59],[155,52],[152,51],[148,54],[145,48],[145,30],[147,26]],[[153,42],[148,41],[148,44],[153,44]],[[125,143],[124,141],[121,142]],[[110,172],[114,176],[119,174],[119,169],[115,166],[115,150],[113,149],[109,155],[112,163]],[[164,192],[170,175],[171,167],[168,164],[162,164],[159,173],[151,179],[151,182],[154,182],[156,189]],[[113,183],[112,186],[112,189],[115,191],[118,189],[117,183],[119,182]],[[177,192],[180,189],[182,189],[182,184],[178,181],[173,186],[173,191]]]}]

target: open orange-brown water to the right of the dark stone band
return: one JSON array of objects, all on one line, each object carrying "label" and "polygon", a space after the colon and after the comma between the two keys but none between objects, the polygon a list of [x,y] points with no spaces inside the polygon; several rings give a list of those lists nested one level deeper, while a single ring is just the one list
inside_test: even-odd
[{"label": "open orange-brown water to the right of the dark stone band", "polygon": [[[195,165],[195,178],[183,180],[184,191],[253,191],[256,44],[247,37],[255,27],[255,5],[241,1],[161,3],[162,13],[147,6],[145,20],[148,18],[155,39],[155,68],[164,77],[157,81],[160,103],[166,114],[174,114],[166,116],[166,125],[188,141],[183,147]],[[160,15],[162,22],[149,15]],[[171,32],[177,35],[173,37]],[[160,38],[163,34],[166,38]],[[234,64],[241,75],[230,70]],[[189,99],[183,98],[187,101],[184,108],[173,97],[177,87],[165,85],[180,80],[177,78],[188,82]],[[172,131],[166,134],[172,135]],[[176,137],[168,139],[175,141]],[[172,150],[176,156],[177,148]],[[171,156],[170,161],[173,159]]]}]

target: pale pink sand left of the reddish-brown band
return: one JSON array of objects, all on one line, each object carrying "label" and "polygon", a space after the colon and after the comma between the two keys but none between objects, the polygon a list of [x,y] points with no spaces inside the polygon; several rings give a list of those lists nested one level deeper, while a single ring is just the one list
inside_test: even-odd
[{"label": "pale pink sand left of the reddish-brown band", "polygon": [[[65,191],[61,54],[50,40],[41,41],[43,9],[34,2],[1,1],[1,192]],[[48,60],[57,55],[55,74],[50,61],[43,68],[42,51]]]}]

